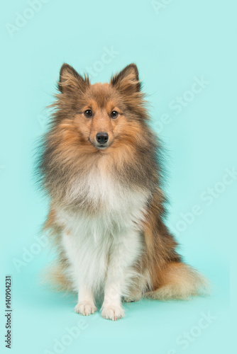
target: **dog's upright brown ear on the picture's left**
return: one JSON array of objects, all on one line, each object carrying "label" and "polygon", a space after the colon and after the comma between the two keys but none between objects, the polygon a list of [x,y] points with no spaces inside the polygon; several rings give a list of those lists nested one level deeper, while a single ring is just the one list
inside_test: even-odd
[{"label": "dog's upright brown ear on the picture's left", "polygon": [[62,64],[60,69],[60,80],[58,82],[58,89],[62,93],[75,90],[85,91],[89,84],[89,78],[87,76],[84,76],[83,78],[69,64]]}]

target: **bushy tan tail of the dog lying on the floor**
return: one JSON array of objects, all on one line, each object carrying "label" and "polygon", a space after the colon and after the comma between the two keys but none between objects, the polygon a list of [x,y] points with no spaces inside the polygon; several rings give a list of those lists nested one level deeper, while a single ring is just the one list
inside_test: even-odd
[{"label": "bushy tan tail of the dog lying on the floor", "polygon": [[197,295],[208,295],[210,283],[204,275],[181,262],[170,263],[159,276],[159,286],[148,291],[145,297],[152,299],[188,299]]}]

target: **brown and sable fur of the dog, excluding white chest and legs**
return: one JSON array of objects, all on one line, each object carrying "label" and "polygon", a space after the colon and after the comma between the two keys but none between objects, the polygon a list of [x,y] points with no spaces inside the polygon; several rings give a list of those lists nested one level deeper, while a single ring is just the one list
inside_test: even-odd
[{"label": "brown and sable fur of the dog, excluding white chest and legs", "polygon": [[[148,275],[146,296],[155,299],[185,299],[198,295],[206,282],[196,270],[182,263],[176,252],[177,242],[165,226],[165,196],[162,193],[160,143],[148,125],[148,112],[140,91],[138,70],[135,64],[111,78],[110,84],[89,83],[67,64],[60,71],[60,93],[51,107],[55,109],[50,130],[43,140],[39,171],[40,181],[51,199],[51,209],[45,229],[55,239],[58,264],[53,268],[53,278],[62,289],[70,288],[67,281],[67,259],[60,248],[62,229],[55,221],[54,207],[67,210],[84,210],[88,215],[97,214],[103,205],[82,199],[68,200],[65,195],[77,178],[86,178],[98,159],[103,169],[123,185],[136,190],[150,190],[143,222],[145,252],[140,260],[140,271]],[[85,117],[91,109],[93,119]],[[111,119],[111,110],[118,111]],[[95,147],[97,132],[108,132],[108,149]],[[131,289],[131,299],[143,296],[142,285]]]}]

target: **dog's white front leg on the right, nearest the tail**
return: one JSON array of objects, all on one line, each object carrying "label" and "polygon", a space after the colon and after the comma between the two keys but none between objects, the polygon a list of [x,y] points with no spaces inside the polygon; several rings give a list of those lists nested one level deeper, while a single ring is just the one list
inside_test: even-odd
[{"label": "dog's white front leg on the right, nearest the tail", "polygon": [[140,251],[141,242],[138,232],[123,234],[111,246],[101,312],[105,319],[116,321],[123,317],[121,297],[130,285],[127,273],[136,262]]}]

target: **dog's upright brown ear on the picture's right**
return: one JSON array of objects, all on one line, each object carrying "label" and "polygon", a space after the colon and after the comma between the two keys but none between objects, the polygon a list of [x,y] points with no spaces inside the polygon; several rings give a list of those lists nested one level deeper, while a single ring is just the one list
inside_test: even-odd
[{"label": "dog's upright brown ear on the picture's right", "polygon": [[140,91],[140,81],[136,64],[129,64],[121,72],[111,77],[111,85],[124,93]]}]

